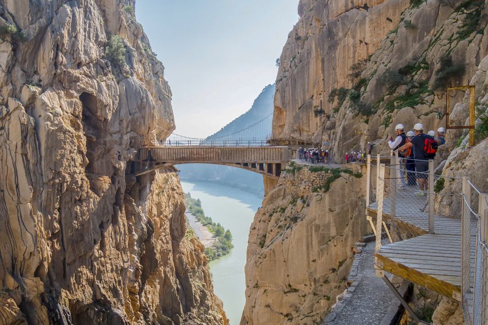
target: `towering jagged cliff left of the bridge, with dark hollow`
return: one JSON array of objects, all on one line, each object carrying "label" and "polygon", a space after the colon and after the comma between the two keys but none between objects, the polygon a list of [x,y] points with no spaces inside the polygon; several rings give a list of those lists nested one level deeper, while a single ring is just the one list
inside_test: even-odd
[{"label": "towering jagged cliff left of the bridge, with dark hollow", "polygon": [[225,323],[177,177],[129,175],[174,129],[134,2],[0,7],[0,322]]}]

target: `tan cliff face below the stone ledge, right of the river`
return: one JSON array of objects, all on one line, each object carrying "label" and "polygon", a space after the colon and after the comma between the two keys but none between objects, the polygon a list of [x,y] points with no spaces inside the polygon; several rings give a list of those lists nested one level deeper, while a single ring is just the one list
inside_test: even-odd
[{"label": "tan cliff face below the stone ledge, right of the river", "polygon": [[241,325],[318,323],[344,291],[366,229],[360,174],[287,171],[251,225]]}]

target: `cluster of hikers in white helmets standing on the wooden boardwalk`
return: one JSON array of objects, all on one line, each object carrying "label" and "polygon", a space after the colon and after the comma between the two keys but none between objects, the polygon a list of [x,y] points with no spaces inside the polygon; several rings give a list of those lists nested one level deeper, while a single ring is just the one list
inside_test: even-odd
[{"label": "cluster of hikers in white helmets standing on the wooden boardwalk", "polygon": [[[390,137],[388,145],[394,152],[398,152],[401,168],[399,178],[402,186],[416,186],[418,183],[419,191],[415,192],[418,196],[425,195],[428,190],[429,160],[434,159],[437,149],[445,144],[446,129],[439,127],[437,133],[429,131],[424,134],[423,125],[417,123],[413,126],[413,131],[405,134],[405,126],[398,124],[395,126],[396,138]],[[405,179],[405,172],[407,177]]]}]

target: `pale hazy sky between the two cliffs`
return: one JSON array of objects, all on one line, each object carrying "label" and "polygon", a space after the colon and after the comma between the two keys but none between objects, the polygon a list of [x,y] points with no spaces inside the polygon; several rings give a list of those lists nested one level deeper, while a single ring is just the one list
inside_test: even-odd
[{"label": "pale hazy sky between the two cliffs", "polygon": [[137,20],[165,66],[176,133],[205,138],[275,82],[298,0],[137,0]]}]

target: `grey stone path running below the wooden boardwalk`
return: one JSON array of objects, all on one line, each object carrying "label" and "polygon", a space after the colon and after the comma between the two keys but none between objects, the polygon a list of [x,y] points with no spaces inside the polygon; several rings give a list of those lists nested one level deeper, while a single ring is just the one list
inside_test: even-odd
[{"label": "grey stone path running below the wooden boardwalk", "polygon": [[[375,276],[375,243],[368,243],[362,253],[356,255],[358,261],[358,284],[348,289],[349,298],[343,300],[343,306],[335,308],[323,325],[378,325],[386,315],[394,296],[383,280]],[[353,284],[354,285],[354,284]],[[339,305],[339,304],[338,304]],[[332,315],[335,314],[335,315]]]}]

